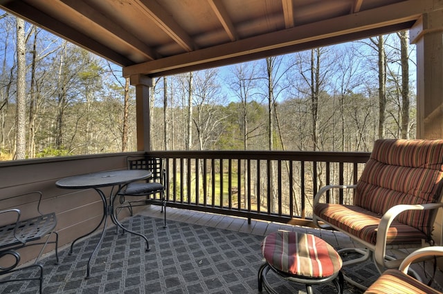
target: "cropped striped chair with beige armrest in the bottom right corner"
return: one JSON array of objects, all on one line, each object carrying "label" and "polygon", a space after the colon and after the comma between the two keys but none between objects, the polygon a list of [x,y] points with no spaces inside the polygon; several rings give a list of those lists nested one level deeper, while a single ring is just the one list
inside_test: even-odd
[{"label": "cropped striped chair with beige armrest in the bottom right corner", "polygon": [[430,286],[407,275],[411,263],[422,257],[443,256],[442,246],[431,246],[414,251],[401,263],[399,269],[388,269],[372,284],[365,294],[442,294]]}]

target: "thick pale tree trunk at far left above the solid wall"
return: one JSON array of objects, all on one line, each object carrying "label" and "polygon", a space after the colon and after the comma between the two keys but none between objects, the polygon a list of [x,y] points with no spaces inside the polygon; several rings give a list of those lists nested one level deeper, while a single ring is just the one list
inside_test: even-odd
[{"label": "thick pale tree trunk at far left above the solid wall", "polygon": [[25,21],[17,20],[17,114],[15,119],[15,159],[26,158],[26,41]]}]

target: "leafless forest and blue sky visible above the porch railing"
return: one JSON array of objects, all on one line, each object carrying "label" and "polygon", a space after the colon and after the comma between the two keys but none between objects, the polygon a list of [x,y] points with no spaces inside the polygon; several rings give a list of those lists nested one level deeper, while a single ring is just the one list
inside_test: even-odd
[{"label": "leafless forest and blue sky visible above the porch railing", "polygon": [[[136,149],[121,68],[0,12],[0,160]],[[408,32],[154,79],[153,150],[369,151],[415,137]]]}]

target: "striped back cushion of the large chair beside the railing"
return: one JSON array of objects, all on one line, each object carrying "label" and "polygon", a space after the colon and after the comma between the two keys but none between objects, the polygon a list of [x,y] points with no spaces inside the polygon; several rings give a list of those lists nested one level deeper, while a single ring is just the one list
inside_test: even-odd
[{"label": "striped back cushion of the large chair beside the railing", "polygon": [[[397,204],[440,202],[443,140],[380,139],[357,182],[354,204],[383,215]],[[431,238],[436,210],[409,210],[397,221]]]}]

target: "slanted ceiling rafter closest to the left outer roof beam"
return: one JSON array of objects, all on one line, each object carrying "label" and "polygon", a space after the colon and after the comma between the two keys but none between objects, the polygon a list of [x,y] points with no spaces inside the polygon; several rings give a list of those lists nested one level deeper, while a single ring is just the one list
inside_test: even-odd
[{"label": "slanted ceiling rafter closest to the left outer roof beam", "polygon": [[124,30],[117,23],[112,22],[110,19],[105,17],[105,15],[97,13],[97,10],[91,8],[84,1],[79,0],[62,0],[62,2],[71,8],[73,14],[80,13],[86,19],[90,19],[98,26],[101,26],[116,38],[121,39],[127,43],[127,46],[131,47],[133,50],[138,52],[138,54],[144,56],[147,59],[154,60],[159,58],[159,56],[145,43],[134,37],[130,32]]}]

